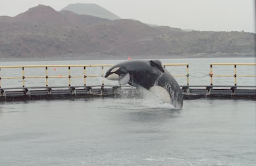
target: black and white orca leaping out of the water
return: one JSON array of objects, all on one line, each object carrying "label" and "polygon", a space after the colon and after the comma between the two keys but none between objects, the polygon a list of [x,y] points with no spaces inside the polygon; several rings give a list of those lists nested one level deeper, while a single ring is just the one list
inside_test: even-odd
[{"label": "black and white orca leaping out of the water", "polygon": [[164,102],[174,108],[183,106],[182,92],[174,77],[162,66],[160,60],[129,60],[108,69],[105,78],[117,80],[120,85],[129,84],[158,93]]}]

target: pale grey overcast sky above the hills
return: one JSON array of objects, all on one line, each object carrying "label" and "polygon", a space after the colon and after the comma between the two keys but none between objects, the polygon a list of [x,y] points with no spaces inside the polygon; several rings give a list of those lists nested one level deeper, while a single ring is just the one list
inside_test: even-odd
[{"label": "pale grey overcast sky above the hills", "polygon": [[0,0],[0,15],[11,17],[44,4],[61,10],[68,4],[95,3],[121,18],[200,31],[255,33],[254,0]]}]

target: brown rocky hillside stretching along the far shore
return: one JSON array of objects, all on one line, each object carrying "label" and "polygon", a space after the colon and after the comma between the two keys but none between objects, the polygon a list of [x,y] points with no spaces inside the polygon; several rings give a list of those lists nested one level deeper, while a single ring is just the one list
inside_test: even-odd
[{"label": "brown rocky hillside stretching along the far shore", "polygon": [[0,17],[0,58],[166,58],[195,55],[254,55],[255,34],[183,31],[135,20],[108,20],[36,6],[15,17]]}]

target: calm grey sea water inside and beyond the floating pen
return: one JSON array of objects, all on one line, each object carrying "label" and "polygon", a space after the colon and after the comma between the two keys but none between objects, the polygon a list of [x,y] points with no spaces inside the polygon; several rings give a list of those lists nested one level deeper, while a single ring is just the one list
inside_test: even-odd
[{"label": "calm grey sea water inside and beyond the floating pen", "polygon": [[[210,84],[209,77],[202,77],[210,63],[254,60],[162,61],[189,63],[195,76],[190,83],[195,85]],[[1,62],[0,66],[119,61]],[[186,84],[186,79],[178,82]],[[255,82],[245,77],[239,84]],[[255,120],[254,100],[184,100],[180,110],[151,97],[1,102],[0,165],[255,165]]]}]

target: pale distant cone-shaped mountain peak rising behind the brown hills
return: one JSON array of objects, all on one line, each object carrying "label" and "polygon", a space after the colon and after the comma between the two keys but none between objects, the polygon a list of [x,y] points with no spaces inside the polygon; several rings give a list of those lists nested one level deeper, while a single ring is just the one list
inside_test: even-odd
[{"label": "pale distant cone-shaped mountain peak rising behind the brown hills", "polygon": [[75,14],[80,15],[93,15],[95,17],[106,18],[108,20],[119,20],[121,19],[117,15],[109,12],[108,10],[100,7],[96,4],[69,4],[62,10],[69,10]]}]

